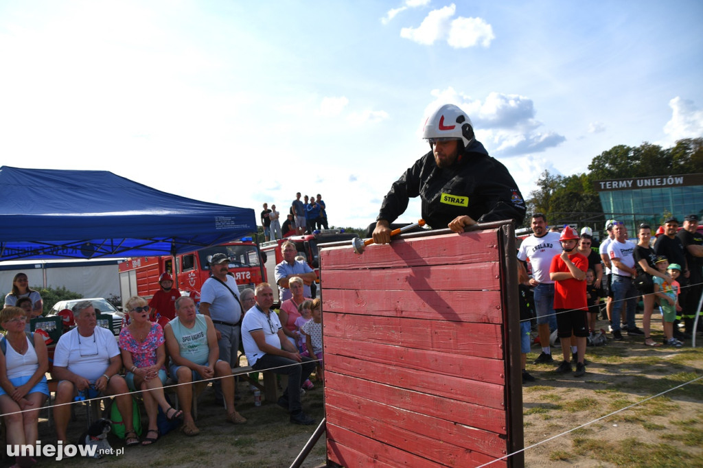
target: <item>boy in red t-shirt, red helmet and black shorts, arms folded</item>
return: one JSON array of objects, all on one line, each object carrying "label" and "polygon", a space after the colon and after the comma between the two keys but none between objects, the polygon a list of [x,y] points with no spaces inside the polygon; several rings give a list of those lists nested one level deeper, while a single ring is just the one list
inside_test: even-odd
[{"label": "boy in red t-shirt, red helmet and black shorts, arms folded", "polygon": [[586,270],[588,259],[579,254],[576,245],[579,242],[572,228],[565,226],[559,238],[562,253],[555,255],[549,269],[549,277],[554,281],[554,311],[557,314],[557,336],[562,344],[564,361],[557,372],[572,372],[569,360],[572,347],[569,338],[576,337],[576,372],[574,377],[586,374],[584,360],[586,356],[586,337],[588,337],[588,301],[586,299]]}]

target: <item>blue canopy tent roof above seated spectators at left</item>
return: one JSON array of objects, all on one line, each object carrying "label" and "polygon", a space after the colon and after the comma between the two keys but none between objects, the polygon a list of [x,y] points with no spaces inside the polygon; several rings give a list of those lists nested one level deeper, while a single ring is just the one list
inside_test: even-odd
[{"label": "blue canopy tent roof above seated spectators at left", "polygon": [[0,167],[0,261],[190,252],[257,230],[254,210],[161,192],[108,171]]}]

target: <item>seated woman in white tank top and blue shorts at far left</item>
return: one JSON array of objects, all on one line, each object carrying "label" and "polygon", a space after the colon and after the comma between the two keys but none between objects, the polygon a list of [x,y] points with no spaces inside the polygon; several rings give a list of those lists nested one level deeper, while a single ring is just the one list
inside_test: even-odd
[{"label": "seated woman in white tank top and blue shorts at far left", "polygon": [[[19,307],[0,311],[0,325],[7,330],[0,340],[0,413],[7,427],[8,446],[37,443],[39,408],[49,396],[44,376],[49,369],[46,345],[41,335],[25,333],[25,321],[25,311]],[[15,461],[20,467],[37,462],[19,455]]]}]

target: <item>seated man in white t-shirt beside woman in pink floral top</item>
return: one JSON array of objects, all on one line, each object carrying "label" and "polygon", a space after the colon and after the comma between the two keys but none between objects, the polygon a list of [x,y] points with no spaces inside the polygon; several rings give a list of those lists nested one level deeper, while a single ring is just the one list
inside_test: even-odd
[{"label": "seated man in white t-shirt beside woman in pink floral top", "polygon": [[80,301],[73,307],[76,327],[61,335],[53,356],[55,379],[59,379],[56,389],[56,404],[53,416],[56,418],[58,441],[68,443],[66,428],[71,417],[71,406],[79,391],[89,387],[103,395],[115,396],[115,403],[124,417],[125,441],[128,446],[139,441],[132,425],[132,403],[127,382],[118,375],[122,368],[120,349],[110,330],[98,327],[95,308],[90,301]]}]

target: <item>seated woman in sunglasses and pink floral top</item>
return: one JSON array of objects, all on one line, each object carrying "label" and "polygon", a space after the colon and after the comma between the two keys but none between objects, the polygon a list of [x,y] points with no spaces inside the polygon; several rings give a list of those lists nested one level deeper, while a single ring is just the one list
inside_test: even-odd
[{"label": "seated woman in sunglasses and pink floral top", "polygon": [[142,391],[149,428],[141,445],[148,446],[159,440],[157,406],[161,407],[168,420],[180,417],[183,412],[172,408],[164,396],[166,351],[161,325],[149,321],[149,306],[145,299],[130,297],[126,305],[130,321],[120,331],[117,344],[124,368],[129,369],[125,377],[127,386],[132,391]]}]

